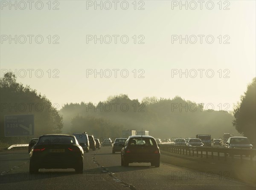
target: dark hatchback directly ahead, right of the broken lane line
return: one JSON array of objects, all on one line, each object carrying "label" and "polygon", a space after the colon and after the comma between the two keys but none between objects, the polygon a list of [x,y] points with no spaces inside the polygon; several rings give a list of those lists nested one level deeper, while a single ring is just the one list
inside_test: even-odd
[{"label": "dark hatchback directly ahead, right of the broken lane line", "polygon": [[121,150],[121,165],[133,162],[150,162],[151,166],[160,166],[160,150],[156,140],[151,136],[129,136]]}]

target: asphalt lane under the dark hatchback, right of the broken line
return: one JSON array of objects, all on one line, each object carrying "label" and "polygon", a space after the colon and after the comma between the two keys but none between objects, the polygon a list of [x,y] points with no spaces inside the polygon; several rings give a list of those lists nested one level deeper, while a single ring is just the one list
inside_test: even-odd
[{"label": "asphalt lane under the dark hatchback, right of the broken line", "polygon": [[[161,161],[165,159],[170,157],[162,154]],[[112,154],[111,147],[102,147],[102,152],[96,153],[95,160],[105,170],[115,173],[118,179],[134,186],[136,190],[255,190],[255,187],[228,178],[228,173],[214,175],[212,172],[190,170],[163,162],[159,168],[151,167],[150,163],[131,163],[129,167],[122,167],[120,153]]]}]

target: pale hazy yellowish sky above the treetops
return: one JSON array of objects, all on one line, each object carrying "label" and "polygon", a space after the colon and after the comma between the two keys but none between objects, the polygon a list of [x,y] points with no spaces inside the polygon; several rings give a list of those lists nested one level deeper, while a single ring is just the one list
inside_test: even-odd
[{"label": "pale hazy yellowish sky above the treetops", "polygon": [[58,109],[127,94],[232,110],[256,75],[254,0],[182,1],[187,10],[167,0],[97,1],[102,10],[95,1],[9,2],[0,10],[1,77],[16,69]]}]

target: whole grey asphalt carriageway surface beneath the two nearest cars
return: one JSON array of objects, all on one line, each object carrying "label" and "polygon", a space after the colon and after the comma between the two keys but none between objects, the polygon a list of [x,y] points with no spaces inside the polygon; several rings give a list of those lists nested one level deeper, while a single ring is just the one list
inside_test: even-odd
[{"label": "whole grey asphalt carriageway surface beneath the two nearest cars", "polygon": [[132,163],[122,167],[120,153],[111,147],[84,153],[84,172],[74,169],[40,169],[29,174],[27,150],[0,153],[1,190],[255,190],[253,184],[230,179],[229,173],[214,175],[168,164],[161,155],[160,167]]}]

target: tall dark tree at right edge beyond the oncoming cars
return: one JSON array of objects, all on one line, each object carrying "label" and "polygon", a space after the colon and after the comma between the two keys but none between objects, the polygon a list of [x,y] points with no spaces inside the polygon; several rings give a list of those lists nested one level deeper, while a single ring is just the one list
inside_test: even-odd
[{"label": "tall dark tree at right edge beyond the oncoming cars", "polygon": [[256,141],[256,78],[247,86],[247,91],[241,96],[241,101],[234,109],[233,126],[248,137],[251,142]]}]

